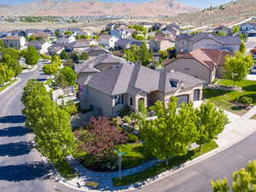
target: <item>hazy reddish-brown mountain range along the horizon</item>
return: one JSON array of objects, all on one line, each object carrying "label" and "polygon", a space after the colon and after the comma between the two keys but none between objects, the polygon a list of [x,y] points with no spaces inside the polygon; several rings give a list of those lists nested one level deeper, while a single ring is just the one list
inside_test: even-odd
[{"label": "hazy reddish-brown mountain range along the horizon", "polygon": [[11,7],[0,7],[0,15],[178,15],[195,12],[177,0],[153,0],[145,3],[106,3],[99,0],[80,2],[42,0]]}]

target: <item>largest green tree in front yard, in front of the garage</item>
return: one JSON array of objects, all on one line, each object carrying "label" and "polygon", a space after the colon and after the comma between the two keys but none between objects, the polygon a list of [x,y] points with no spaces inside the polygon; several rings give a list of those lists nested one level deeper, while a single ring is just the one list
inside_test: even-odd
[{"label": "largest green tree in front yard, in front of the garage", "polygon": [[195,109],[192,105],[182,105],[177,113],[177,98],[172,96],[165,108],[163,102],[155,102],[150,108],[157,119],[143,120],[141,134],[143,145],[160,160],[187,154],[189,144],[195,142]]}]

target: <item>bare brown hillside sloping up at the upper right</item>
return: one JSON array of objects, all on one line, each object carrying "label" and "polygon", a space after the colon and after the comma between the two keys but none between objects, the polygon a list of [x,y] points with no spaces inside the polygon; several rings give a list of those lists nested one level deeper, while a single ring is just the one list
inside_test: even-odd
[{"label": "bare brown hillside sloping up at the upper right", "polygon": [[219,26],[230,25],[251,16],[256,16],[256,0],[237,0],[215,8],[178,15],[166,21],[193,26]]}]

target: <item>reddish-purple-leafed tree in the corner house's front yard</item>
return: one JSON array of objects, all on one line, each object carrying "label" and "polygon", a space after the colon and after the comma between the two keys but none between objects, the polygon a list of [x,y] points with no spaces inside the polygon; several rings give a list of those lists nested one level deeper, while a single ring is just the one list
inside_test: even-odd
[{"label": "reddish-purple-leafed tree in the corner house's front yard", "polygon": [[87,129],[75,131],[79,139],[79,148],[94,156],[97,160],[113,155],[116,144],[125,143],[125,135],[111,125],[108,117],[91,118]]}]

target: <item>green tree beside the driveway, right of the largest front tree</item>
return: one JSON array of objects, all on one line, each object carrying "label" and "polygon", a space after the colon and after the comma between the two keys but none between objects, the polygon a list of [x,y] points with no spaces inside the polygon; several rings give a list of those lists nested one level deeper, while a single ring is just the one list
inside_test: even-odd
[{"label": "green tree beside the driveway, right of the largest front tree", "polygon": [[201,146],[211,143],[217,139],[218,134],[224,131],[224,126],[228,123],[228,118],[224,111],[218,110],[212,103],[202,103],[200,108],[196,110],[197,119],[197,139],[196,143]]}]

